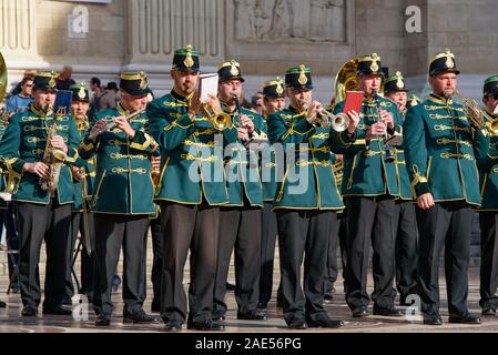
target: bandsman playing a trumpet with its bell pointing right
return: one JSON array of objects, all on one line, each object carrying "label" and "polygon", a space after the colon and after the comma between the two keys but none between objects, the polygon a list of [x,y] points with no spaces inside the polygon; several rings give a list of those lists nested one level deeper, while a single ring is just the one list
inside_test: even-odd
[{"label": "bandsman playing a trumpet with its bell pointing right", "polygon": [[[312,102],[312,73],[306,65],[289,69],[285,87],[288,109],[267,119],[270,142],[283,144],[285,151],[285,161],[277,159],[277,164],[287,166],[274,202],[284,320],[296,329],[341,327],[344,323],[331,320],[323,306],[328,232],[337,223],[335,212],[344,209],[332,172],[331,151],[355,142],[358,118],[353,113],[342,133],[319,126],[318,111],[323,108]],[[299,280],[303,256],[304,292]]]}]

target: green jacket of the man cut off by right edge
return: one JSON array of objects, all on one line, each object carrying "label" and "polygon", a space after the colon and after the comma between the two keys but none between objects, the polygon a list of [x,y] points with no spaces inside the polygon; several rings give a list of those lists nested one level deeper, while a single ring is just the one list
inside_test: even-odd
[{"label": "green jacket of the man cut off by right edge", "polygon": [[[488,114],[495,120],[498,119],[498,115]],[[498,211],[498,134],[490,131],[489,140],[488,154],[481,156],[477,162],[481,195],[479,211]]]}]

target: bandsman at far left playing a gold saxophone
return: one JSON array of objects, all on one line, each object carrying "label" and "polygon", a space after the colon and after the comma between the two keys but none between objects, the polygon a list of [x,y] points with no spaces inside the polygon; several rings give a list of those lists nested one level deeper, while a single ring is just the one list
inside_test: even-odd
[{"label": "bandsman at far left playing a gold saxophone", "polygon": [[[18,204],[22,316],[38,313],[41,297],[38,263],[43,240],[47,246],[43,314],[72,313],[62,306],[69,267],[65,257],[68,231],[74,202],[71,172],[67,164],[75,162],[81,139],[69,112],[53,111],[55,77],[54,72],[35,74],[33,103],[28,111],[10,119],[0,142],[1,168],[20,179],[12,200]],[[63,162],[49,166],[48,161],[55,151],[64,156]],[[57,171],[55,165],[60,166],[60,173],[51,174],[51,171]],[[59,175],[59,181],[55,175]],[[55,190],[43,190],[41,182],[44,186],[57,183]]]}]

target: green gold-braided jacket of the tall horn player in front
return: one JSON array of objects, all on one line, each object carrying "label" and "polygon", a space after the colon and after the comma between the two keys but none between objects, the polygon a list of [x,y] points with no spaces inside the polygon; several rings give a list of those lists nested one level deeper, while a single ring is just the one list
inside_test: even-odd
[{"label": "green gold-braided jacket of the tall horn player in front", "polygon": [[223,146],[216,138],[220,132],[202,115],[193,123],[187,115],[189,108],[190,100],[174,91],[148,105],[151,133],[161,146],[155,200],[226,204]]}]

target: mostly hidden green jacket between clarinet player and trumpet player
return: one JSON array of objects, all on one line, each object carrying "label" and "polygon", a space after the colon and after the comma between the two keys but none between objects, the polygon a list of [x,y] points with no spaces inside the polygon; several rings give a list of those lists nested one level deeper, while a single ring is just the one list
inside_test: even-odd
[{"label": "mostly hidden green jacket between clarinet player and trumpet player", "polygon": [[[267,118],[263,118],[262,135],[267,136]],[[263,201],[273,202],[277,191],[277,165],[275,148],[268,144],[261,152],[261,184],[263,185]]]}]

